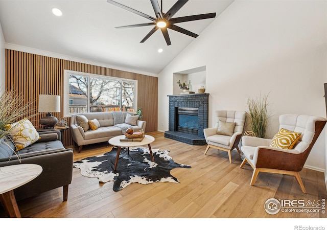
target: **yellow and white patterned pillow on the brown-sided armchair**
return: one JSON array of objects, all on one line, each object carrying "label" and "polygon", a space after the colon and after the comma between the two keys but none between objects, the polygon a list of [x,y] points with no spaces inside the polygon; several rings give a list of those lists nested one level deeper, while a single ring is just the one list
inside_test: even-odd
[{"label": "yellow and white patterned pillow on the brown-sided armchair", "polygon": [[293,149],[296,142],[300,139],[300,132],[292,132],[281,128],[271,140],[270,147]]}]

